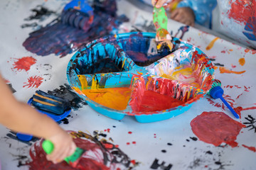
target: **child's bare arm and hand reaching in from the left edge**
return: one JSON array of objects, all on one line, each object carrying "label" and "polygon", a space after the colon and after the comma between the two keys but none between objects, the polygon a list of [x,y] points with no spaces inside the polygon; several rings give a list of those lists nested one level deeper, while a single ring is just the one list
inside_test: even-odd
[{"label": "child's bare arm and hand reaching in from the left edge", "polygon": [[0,75],[0,123],[16,132],[43,137],[53,142],[55,149],[47,158],[54,163],[75,152],[75,143],[65,130],[47,115],[38,113],[11,94],[9,86]]}]

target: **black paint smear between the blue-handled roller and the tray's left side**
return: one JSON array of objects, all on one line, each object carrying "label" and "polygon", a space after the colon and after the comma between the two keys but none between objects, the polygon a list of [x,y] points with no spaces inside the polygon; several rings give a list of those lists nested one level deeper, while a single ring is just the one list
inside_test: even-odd
[{"label": "black paint smear between the blue-handled roller and the tray's left side", "polygon": [[80,98],[77,94],[75,94],[75,92],[72,91],[68,84],[60,86],[60,89],[48,91],[48,94],[67,100],[73,110],[78,110],[78,108],[82,108],[82,106],[87,105],[85,101],[82,101],[82,98]]}]

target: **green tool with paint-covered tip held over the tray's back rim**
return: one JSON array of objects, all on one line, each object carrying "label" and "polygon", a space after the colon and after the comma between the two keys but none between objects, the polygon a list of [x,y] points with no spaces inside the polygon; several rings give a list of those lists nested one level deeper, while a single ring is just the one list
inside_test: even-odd
[{"label": "green tool with paint-covered tip held over the tray's back rim", "polygon": [[167,52],[171,52],[173,48],[173,44],[171,43],[172,38],[167,30],[168,17],[163,6],[161,8],[156,8],[156,6],[154,6],[153,22],[154,26],[156,27],[157,51],[159,53],[164,52],[164,50],[167,50]]}]

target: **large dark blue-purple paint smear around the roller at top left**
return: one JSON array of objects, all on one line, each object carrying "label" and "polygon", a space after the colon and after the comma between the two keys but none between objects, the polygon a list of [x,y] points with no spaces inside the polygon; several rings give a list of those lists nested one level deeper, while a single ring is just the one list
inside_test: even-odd
[{"label": "large dark blue-purple paint smear around the roller at top left", "polygon": [[118,26],[128,20],[125,16],[116,15],[117,5],[114,0],[95,0],[93,8],[93,21],[89,13],[85,13],[84,16],[89,23],[92,21],[91,24],[88,23],[90,26],[87,31],[73,28],[57,19],[46,27],[30,33],[23,46],[37,55],[55,54],[63,57],[86,42],[117,33]]}]

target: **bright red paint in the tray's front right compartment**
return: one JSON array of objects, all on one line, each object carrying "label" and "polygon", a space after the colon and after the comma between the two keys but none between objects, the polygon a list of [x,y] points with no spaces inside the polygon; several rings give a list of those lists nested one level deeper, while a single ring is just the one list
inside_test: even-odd
[{"label": "bright red paint in the tray's front right compartment", "polygon": [[[197,59],[195,59],[197,60]],[[161,111],[175,109],[203,97],[184,84],[170,79],[147,77],[134,77],[136,79],[132,86],[132,96],[129,106],[132,107],[133,114],[153,114]],[[212,79],[205,79],[200,84],[204,84],[201,89],[210,89]]]}]

